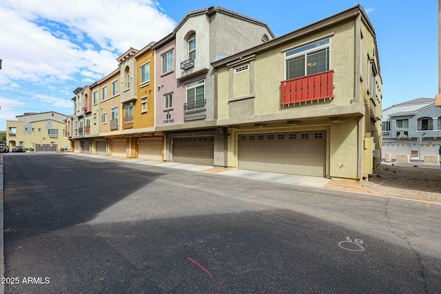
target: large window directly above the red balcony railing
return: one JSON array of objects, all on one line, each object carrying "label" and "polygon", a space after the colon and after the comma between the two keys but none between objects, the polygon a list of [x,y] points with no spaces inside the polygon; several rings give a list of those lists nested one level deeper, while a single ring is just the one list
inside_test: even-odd
[{"label": "large window directly above the red balcony railing", "polygon": [[329,70],[330,41],[325,39],[286,52],[287,80]]}]

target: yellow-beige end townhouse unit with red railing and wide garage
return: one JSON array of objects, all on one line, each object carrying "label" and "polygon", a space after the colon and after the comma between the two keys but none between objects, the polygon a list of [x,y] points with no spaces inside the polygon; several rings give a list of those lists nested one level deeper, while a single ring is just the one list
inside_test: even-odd
[{"label": "yellow-beige end townhouse unit with red railing and wide garage", "polygon": [[228,166],[361,180],[380,163],[382,79],[361,6],[213,65]]}]

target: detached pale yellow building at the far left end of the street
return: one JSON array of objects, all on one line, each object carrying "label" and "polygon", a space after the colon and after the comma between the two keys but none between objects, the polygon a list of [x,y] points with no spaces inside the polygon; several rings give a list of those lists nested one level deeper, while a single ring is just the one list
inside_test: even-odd
[{"label": "detached pale yellow building at the far left end of the street", "polygon": [[23,146],[35,151],[57,151],[68,149],[69,140],[65,138],[67,118],[58,112],[28,112],[16,116],[17,120],[6,120],[6,143],[10,150],[14,146]]}]

